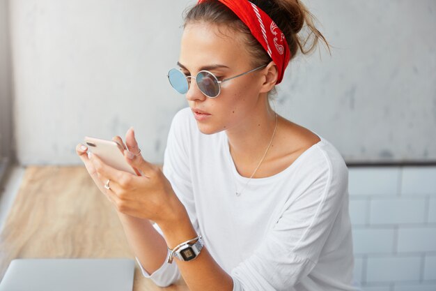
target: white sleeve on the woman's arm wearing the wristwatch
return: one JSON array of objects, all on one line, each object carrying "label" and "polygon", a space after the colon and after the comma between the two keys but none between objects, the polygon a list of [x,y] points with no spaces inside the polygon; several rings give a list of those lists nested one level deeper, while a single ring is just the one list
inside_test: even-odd
[{"label": "white sleeve on the woman's arm wearing the wristwatch", "polygon": [[[326,163],[327,161],[327,163]],[[300,171],[298,193],[254,253],[231,271],[233,291],[290,290],[316,266],[348,193],[348,169],[322,163]]]}]

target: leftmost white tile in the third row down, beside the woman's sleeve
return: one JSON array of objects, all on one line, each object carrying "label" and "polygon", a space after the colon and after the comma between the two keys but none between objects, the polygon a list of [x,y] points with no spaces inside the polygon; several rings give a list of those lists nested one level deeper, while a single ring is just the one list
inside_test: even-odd
[{"label": "leftmost white tile in the third row down, beside the woman's sleeve", "polygon": [[393,253],[394,229],[353,229],[353,251],[356,254]]}]

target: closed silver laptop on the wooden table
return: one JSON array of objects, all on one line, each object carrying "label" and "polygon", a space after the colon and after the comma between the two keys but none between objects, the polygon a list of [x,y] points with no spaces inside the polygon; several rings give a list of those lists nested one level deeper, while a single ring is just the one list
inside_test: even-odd
[{"label": "closed silver laptop on the wooden table", "polygon": [[0,291],[132,291],[131,259],[16,259]]}]

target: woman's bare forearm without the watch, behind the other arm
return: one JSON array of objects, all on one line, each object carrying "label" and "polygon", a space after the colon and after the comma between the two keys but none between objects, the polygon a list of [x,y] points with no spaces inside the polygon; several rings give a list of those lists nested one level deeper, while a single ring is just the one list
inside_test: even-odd
[{"label": "woman's bare forearm without the watch, behind the other arm", "polygon": [[152,274],[166,260],[166,242],[148,219],[136,218],[117,211],[127,241],[143,269]]}]

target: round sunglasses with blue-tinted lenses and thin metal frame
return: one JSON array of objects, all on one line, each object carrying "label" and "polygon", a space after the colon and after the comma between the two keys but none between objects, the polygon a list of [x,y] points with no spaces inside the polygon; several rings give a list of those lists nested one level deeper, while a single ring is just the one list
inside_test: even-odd
[{"label": "round sunglasses with blue-tinted lenses and thin metal frame", "polygon": [[[208,96],[209,98],[215,98],[221,92],[221,83],[235,79],[236,77],[240,77],[246,75],[248,73],[254,72],[260,68],[264,68],[267,65],[260,66],[258,68],[254,68],[253,70],[249,70],[245,73],[235,75],[234,77],[229,77],[227,79],[219,81],[217,76],[210,73],[208,70],[201,70],[197,73],[195,80],[198,86],[198,89]],[[171,86],[176,89],[180,94],[186,94],[189,89],[189,84],[191,82],[188,81],[188,78],[192,78],[193,76],[185,75],[180,69],[172,68],[168,72],[168,80]]]}]

